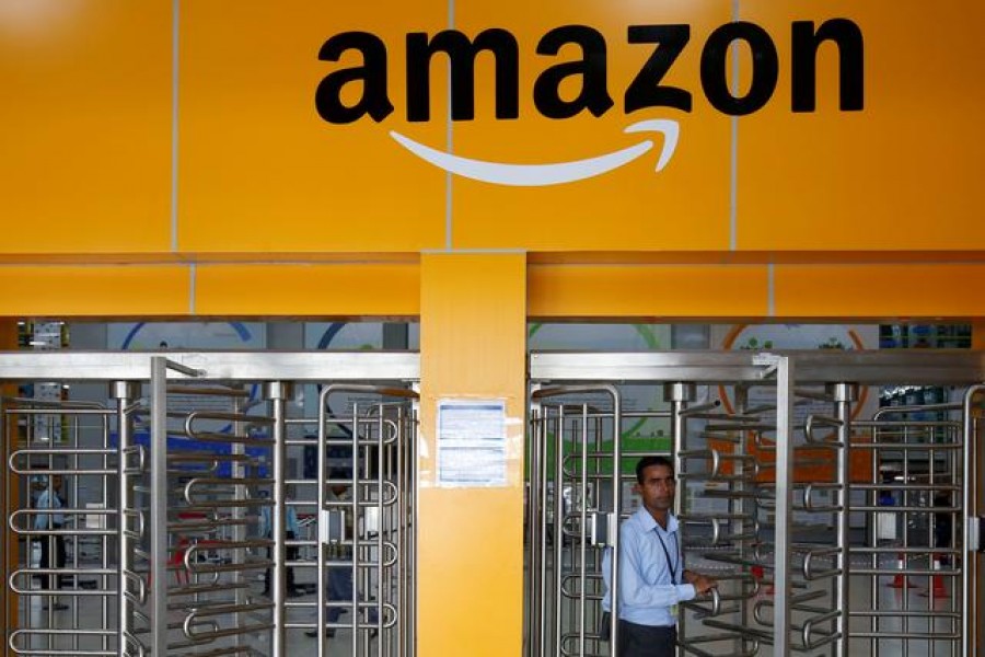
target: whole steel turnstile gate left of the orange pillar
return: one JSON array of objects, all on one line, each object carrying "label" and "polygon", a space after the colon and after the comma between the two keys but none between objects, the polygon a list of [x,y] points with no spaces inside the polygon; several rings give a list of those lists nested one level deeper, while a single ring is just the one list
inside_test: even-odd
[{"label": "whole steel turnstile gate left of the orange pillar", "polygon": [[[4,655],[413,656],[416,354],[0,354]],[[305,399],[314,400],[304,402]]]}]

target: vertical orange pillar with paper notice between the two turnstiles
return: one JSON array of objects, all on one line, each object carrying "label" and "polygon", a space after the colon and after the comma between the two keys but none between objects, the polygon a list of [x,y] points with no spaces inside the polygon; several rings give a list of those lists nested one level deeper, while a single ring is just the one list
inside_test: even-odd
[{"label": "vertical orange pillar with paper notice between the two turnstiles", "polygon": [[425,255],[420,306],[418,650],[520,655],[526,258]]}]

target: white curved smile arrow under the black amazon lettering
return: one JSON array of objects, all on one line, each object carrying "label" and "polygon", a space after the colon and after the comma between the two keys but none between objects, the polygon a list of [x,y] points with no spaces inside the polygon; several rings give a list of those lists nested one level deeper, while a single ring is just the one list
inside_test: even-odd
[{"label": "white curved smile arrow under the black amazon lettering", "polygon": [[[665,118],[641,120],[625,129],[626,132],[661,132],[663,135],[663,148],[657,160],[657,171],[662,170],[670,162],[677,147],[680,128],[677,122]],[[429,146],[418,143],[399,132],[391,130],[390,136],[408,151],[426,162],[461,175],[462,177],[493,183],[496,185],[512,185],[520,187],[542,187],[545,185],[560,185],[609,173],[624,164],[636,160],[653,148],[649,139],[615,152],[575,160],[571,162],[555,162],[551,164],[509,164],[506,162],[486,162],[453,155]]]}]

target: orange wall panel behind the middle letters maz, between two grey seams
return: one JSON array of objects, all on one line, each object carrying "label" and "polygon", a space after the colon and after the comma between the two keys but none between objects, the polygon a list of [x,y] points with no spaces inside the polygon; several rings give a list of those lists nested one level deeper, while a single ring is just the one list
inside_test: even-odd
[{"label": "orange wall panel behind the middle letters maz, between two grey seams", "polygon": [[[567,250],[727,250],[729,247],[728,117],[695,97],[690,114],[652,108],[623,111],[626,88],[652,54],[652,45],[628,45],[630,24],[690,23],[695,39],[730,20],[730,0],[640,3],[637,0],[587,2],[547,0],[530,11],[520,0],[476,0],[459,4],[455,27],[476,34],[502,26],[520,42],[520,119],[497,120],[491,84],[482,88],[476,120],[453,125],[455,152],[495,162],[547,163],[579,160],[652,139],[624,129],[648,118],[681,124],[681,142],[665,170],[653,171],[657,152],[612,173],[551,187],[505,187],[453,177],[453,244],[463,249]],[[549,66],[581,57],[567,46],[558,56],[536,56],[549,30],[583,24],[601,32],[607,45],[607,88],[614,106],[601,117],[584,113],[568,119],[542,116],[533,103],[536,78]],[[691,44],[665,83],[694,88],[700,44]],[[483,70],[489,74],[491,67]],[[568,93],[573,95],[573,84]],[[699,89],[695,90],[699,94]]]}]

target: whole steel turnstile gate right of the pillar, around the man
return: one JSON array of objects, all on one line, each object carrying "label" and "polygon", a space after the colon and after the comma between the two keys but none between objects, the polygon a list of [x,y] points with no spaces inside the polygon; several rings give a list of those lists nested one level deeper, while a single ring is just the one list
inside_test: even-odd
[{"label": "whole steel turnstile gate right of the pillar, around the man", "polygon": [[[528,655],[616,654],[603,556],[618,572],[635,463],[659,453],[688,568],[719,581],[681,606],[679,654],[977,649],[981,355],[537,353],[531,379]],[[900,383],[970,388],[867,413],[865,387]],[[640,384],[665,404],[627,407]]]}]

